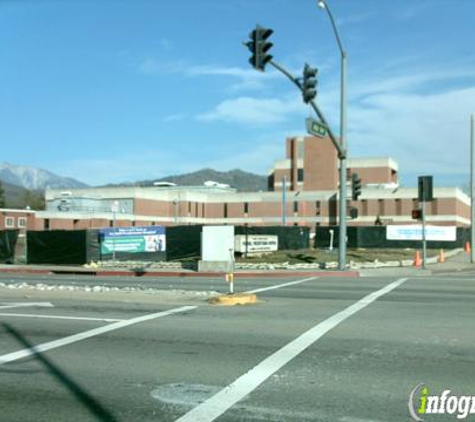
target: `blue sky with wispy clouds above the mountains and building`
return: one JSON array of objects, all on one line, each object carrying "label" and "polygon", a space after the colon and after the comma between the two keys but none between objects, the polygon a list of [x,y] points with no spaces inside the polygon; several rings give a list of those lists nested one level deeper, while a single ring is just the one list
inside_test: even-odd
[{"label": "blue sky with wispy clouds above the mountains and building", "polygon": [[[475,1],[328,0],[348,51],[350,155],[403,185],[463,186],[475,113]],[[339,123],[339,53],[315,0],[0,0],[1,161],[97,185],[212,167],[260,174],[311,111],[242,46],[259,23]]]}]

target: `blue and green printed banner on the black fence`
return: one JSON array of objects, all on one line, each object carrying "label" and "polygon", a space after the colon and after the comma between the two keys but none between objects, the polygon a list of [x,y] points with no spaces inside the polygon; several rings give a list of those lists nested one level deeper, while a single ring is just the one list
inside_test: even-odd
[{"label": "blue and green printed banner on the black fence", "polygon": [[101,229],[101,253],[163,252],[166,250],[165,227],[113,227]]}]

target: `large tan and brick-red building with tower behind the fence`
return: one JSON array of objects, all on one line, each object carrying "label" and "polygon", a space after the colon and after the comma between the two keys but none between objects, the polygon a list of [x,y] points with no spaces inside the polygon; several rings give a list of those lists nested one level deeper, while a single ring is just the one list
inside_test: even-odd
[{"label": "large tan and brick-red building with tower behind the fence", "polygon": [[[338,158],[329,138],[286,140],[286,158],[269,172],[266,192],[236,192],[226,186],[153,186],[46,190],[46,210],[31,213],[28,228],[85,229],[109,226],[233,224],[338,224]],[[349,225],[412,224],[419,206],[416,188],[400,188],[397,163],[391,158],[347,160],[362,179]],[[285,186],[285,192],[283,188]],[[350,192],[350,190],[348,190]],[[470,199],[458,188],[435,188],[426,206],[427,222],[470,225]]]}]

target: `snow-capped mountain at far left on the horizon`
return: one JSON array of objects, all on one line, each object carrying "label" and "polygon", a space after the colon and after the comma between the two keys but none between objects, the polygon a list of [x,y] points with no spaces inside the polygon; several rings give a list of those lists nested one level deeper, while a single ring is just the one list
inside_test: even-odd
[{"label": "snow-capped mountain at far left on the horizon", "polygon": [[26,189],[43,190],[50,188],[85,188],[85,183],[70,177],[62,177],[46,170],[0,163],[0,180]]}]

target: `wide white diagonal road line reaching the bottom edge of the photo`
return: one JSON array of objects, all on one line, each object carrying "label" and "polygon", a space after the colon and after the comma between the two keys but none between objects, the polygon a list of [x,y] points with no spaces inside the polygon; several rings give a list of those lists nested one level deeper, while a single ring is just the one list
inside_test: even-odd
[{"label": "wide white diagonal road line reaching the bottom edge of the photo", "polygon": [[271,375],[302,353],[309,346],[314,344],[324,334],[328,333],[331,329],[335,328],[338,324],[342,323],[355,313],[366,308],[381,296],[396,289],[405,281],[407,281],[407,278],[401,278],[388,284],[382,289],[370,293],[343,311],[338,312],[325,321],[310,328],[308,331],[286,344],[280,350],[268,356],[217,394],[177,419],[176,422],[214,421],[230,407],[259,387],[259,385],[261,385]]}]

